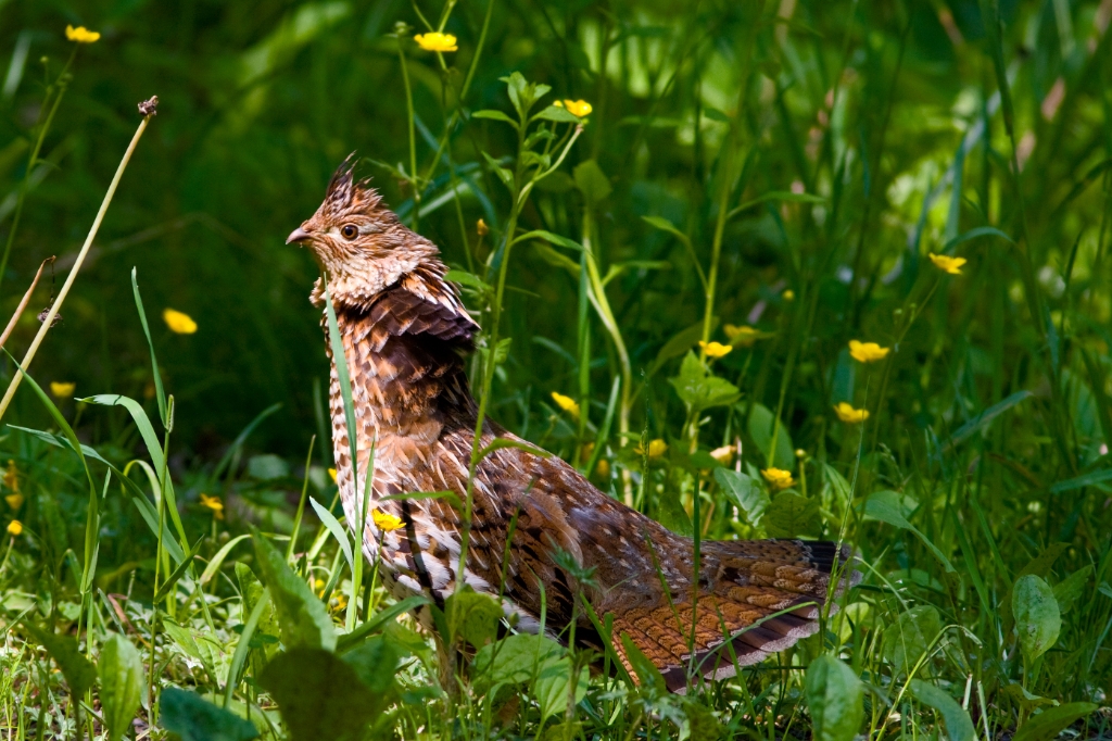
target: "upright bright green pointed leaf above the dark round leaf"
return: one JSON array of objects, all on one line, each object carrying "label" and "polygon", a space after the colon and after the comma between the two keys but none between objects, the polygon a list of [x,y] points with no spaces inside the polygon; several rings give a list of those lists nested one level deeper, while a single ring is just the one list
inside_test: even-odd
[{"label": "upright bright green pointed leaf above the dark round leaf", "polygon": [[252,535],[262,582],[278,611],[282,643],[331,651],[336,631],[325,604],[286,563],[286,559],[260,533]]}]

